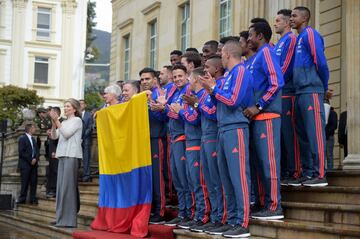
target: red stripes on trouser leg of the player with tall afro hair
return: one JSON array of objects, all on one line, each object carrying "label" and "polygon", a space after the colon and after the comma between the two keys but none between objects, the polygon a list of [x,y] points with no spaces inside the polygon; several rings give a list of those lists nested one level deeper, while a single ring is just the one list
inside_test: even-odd
[{"label": "red stripes on trouser leg of the player with tall afro hair", "polygon": [[268,139],[268,158],[270,165],[270,196],[271,196],[271,205],[270,210],[275,211],[278,207],[277,202],[277,174],[276,174],[276,161],[275,161],[275,151],[274,151],[274,142],[273,142],[273,131],[272,131],[272,121],[266,120],[266,131]]}]

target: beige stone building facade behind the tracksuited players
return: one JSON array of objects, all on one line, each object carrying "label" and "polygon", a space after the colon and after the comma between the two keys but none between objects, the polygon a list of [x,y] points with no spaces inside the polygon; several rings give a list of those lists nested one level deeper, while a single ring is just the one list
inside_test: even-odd
[{"label": "beige stone building facade behind the tracksuited players", "polygon": [[[356,18],[353,9],[358,9],[360,1],[345,0],[236,0],[230,2],[231,33],[237,35],[247,29],[253,17],[265,17],[273,24],[276,12],[282,8],[307,6],[311,10],[310,24],[321,32],[325,40],[326,57],[330,68],[329,88],[334,90],[331,105],[340,116],[348,109],[354,112],[359,104],[359,86],[356,77],[360,74],[359,42],[360,18]],[[184,4],[189,4],[189,46],[201,51],[205,41],[219,39],[219,0],[114,0],[113,28],[111,39],[110,81],[124,80],[124,44],[129,37],[130,79],[137,79],[138,72],[149,66],[149,24],[157,22],[156,65],[169,65],[169,53],[181,48],[181,11]],[[349,7],[351,5],[351,7]],[[349,27],[349,24],[354,27]],[[272,41],[276,43],[274,34]],[[356,88],[357,87],[357,88]],[[350,95],[350,94],[354,95]],[[353,107],[349,107],[350,101]],[[346,104],[347,103],[347,104]],[[360,135],[359,112],[350,114],[349,137]],[[349,116],[348,116],[349,117]],[[357,131],[356,131],[357,130]],[[351,136],[352,135],[352,136]],[[343,165],[343,152],[337,143],[335,133],[334,167]],[[354,152],[359,152],[356,138]],[[349,139],[350,140],[350,139]],[[350,144],[350,141],[349,141]],[[350,148],[349,148],[350,150]],[[357,151],[356,151],[357,150]],[[357,153],[358,155],[358,153]],[[355,156],[359,158],[358,156]]]}]

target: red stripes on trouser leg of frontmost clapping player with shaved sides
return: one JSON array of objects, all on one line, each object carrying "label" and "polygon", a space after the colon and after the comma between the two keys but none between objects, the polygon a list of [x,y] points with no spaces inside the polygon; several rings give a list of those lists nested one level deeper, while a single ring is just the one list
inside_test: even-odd
[{"label": "red stripes on trouser leg of frontmost clapping player with shaved sides", "polygon": [[240,167],[240,183],[243,190],[243,223],[242,227],[247,228],[249,224],[250,202],[249,202],[249,188],[246,180],[246,148],[244,143],[244,133],[242,129],[237,130],[238,146],[239,146],[239,167]]}]

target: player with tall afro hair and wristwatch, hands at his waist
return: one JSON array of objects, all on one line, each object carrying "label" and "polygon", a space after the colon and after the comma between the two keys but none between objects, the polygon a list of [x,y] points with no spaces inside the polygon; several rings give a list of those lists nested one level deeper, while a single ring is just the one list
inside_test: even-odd
[{"label": "player with tall afro hair and wristwatch, hands at his waist", "polygon": [[280,125],[281,88],[284,79],[273,49],[269,46],[272,31],[258,22],[249,29],[249,44],[256,51],[251,62],[255,105],[244,114],[252,119],[251,138],[256,170],[265,190],[265,207],[252,214],[258,219],[284,218],[280,196]]}]

